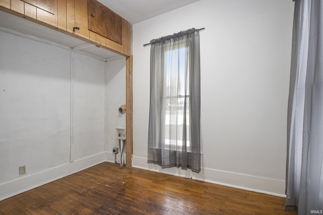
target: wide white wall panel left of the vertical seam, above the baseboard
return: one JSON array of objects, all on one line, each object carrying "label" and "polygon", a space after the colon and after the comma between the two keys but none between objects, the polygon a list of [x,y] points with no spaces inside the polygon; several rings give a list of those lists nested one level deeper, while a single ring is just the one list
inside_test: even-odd
[{"label": "wide white wall panel left of the vertical seam, above the baseboard", "polygon": [[18,178],[22,165],[34,174],[69,162],[70,52],[2,31],[0,37],[4,183]]}]

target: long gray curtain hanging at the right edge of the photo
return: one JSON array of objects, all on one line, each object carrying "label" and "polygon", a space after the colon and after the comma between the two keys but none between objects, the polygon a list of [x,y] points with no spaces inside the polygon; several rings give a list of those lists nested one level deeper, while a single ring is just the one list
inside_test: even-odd
[{"label": "long gray curtain hanging at the right edge of the photo", "polygon": [[285,209],[299,214],[323,211],[322,12],[322,1],[295,1]]}]

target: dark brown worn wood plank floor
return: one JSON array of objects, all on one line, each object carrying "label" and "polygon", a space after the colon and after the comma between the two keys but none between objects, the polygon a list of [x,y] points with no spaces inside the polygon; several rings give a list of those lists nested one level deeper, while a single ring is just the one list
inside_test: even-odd
[{"label": "dark brown worn wood plank floor", "polygon": [[102,163],[0,201],[0,214],[297,214],[285,198]]}]

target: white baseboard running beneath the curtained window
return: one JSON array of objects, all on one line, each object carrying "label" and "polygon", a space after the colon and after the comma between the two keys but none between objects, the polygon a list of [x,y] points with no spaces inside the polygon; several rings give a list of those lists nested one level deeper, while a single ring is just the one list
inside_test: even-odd
[{"label": "white baseboard running beneath the curtained window", "polygon": [[205,181],[213,184],[219,184],[258,193],[286,197],[286,195],[284,194],[285,180],[265,178],[209,168],[201,168],[201,172],[199,174],[194,173],[191,170],[181,170],[181,168],[176,167],[170,169],[161,169],[161,167],[159,167],[158,165],[147,164],[147,158],[136,156],[133,156],[132,167],[180,176],[184,178],[192,178],[199,181]]}]

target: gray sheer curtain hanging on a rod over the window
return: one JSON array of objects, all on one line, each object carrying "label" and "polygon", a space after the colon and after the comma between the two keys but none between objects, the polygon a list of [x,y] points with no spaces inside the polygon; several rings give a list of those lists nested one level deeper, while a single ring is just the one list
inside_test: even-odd
[{"label": "gray sheer curtain hanging on a rod over the window", "polygon": [[150,41],[148,163],[200,172],[199,31]]}]

